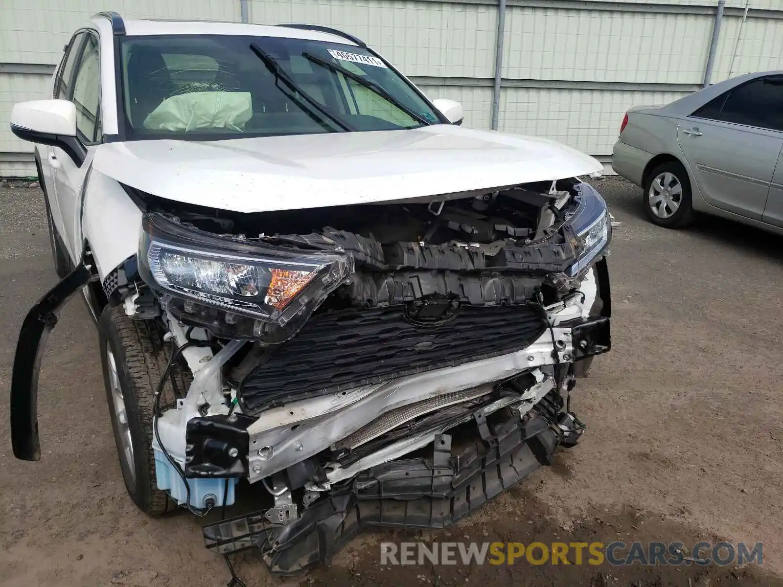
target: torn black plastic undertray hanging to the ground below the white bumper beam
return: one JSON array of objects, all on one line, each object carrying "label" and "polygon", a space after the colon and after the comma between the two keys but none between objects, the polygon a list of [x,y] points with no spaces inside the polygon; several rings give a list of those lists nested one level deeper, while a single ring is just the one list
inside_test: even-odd
[{"label": "torn black plastic undertray hanging to the ground below the white bumper beam", "polygon": [[463,423],[460,435],[434,434],[422,456],[379,463],[334,484],[287,523],[256,512],[207,524],[207,549],[258,548],[273,574],[294,574],[328,562],[368,526],[444,528],[549,464],[583,430],[572,414],[557,424],[554,410],[491,413],[491,419],[481,408],[472,414],[473,434]]}]

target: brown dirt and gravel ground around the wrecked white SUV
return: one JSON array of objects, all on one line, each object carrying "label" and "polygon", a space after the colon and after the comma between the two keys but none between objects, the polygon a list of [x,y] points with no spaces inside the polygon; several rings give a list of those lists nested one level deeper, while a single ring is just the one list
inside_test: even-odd
[{"label": "brown dirt and gravel ground around the wrecked white SUV", "polygon": [[[686,232],[641,218],[640,192],[595,182],[616,220],[609,257],[613,351],[579,383],[587,424],[557,463],[447,531],[367,532],[330,567],[248,585],[783,585],[783,238],[717,219]],[[20,322],[56,282],[41,193],[0,189],[0,398]],[[96,331],[80,301],[49,338],[40,380],[42,458],[11,452],[0,418],[0,585],[226,585],[224,561],[186,513],[135,510],[110,430]],[[251,508],[245,492],[229,515]],[[763,542],[763,565],[380,565],[380,542]]]}]

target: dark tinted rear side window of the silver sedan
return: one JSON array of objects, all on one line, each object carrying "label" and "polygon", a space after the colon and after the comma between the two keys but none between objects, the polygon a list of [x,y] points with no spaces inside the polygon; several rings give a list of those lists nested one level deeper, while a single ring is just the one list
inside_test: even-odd
[{"label": "dark tinted rear side window of the silver sedan", "polygon": [[783,78],[763,78],[734,88],[720,120],[783,131]]}]

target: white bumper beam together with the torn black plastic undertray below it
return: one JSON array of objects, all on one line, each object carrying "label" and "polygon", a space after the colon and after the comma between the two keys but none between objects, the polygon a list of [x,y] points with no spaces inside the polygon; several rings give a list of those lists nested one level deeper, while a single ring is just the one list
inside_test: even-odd
[{"label": "white bumper beam together with the torn black plastic undertray below it", "polygon": [[[258,548],[272,573],[292,574],[327,562],[366,526],[448,526],[576,444],[573,364],[610,346],[608,315],[579,317],[511,354],[237,420],[222,440],[247,446],[249,458],[234,470],[263,479],[275,503],[207,524],[206,546]],[[189,426],[189,446],[214,440],[214,428],[197,433],[209,420]],[[333,458],[319,466],[312,456],[323,450]],[[197,459],[189,455],[191,469]]]}]

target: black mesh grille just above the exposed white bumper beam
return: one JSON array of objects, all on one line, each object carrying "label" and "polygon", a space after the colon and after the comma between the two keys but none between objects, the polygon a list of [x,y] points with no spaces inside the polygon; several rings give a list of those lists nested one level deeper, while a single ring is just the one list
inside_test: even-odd
[{"label": "black mesh grille just above the exposed white bumper beam", "polygon": [[547,325],[525,306],[464,306],[439,326],[415,326],[402,306],[323,312],[247,377],[240,401],[254,413],[292,399],[381,383],[525,348]]}]

